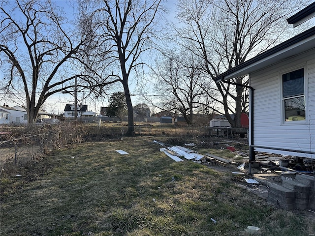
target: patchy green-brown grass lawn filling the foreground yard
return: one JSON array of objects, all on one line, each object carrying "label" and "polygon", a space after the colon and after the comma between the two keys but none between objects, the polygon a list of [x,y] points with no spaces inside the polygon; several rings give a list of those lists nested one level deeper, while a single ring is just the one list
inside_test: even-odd
[{"label": "patchy green-brown grass lawn filling the foreground yard", "polygon": [[315,235],[314,216],[269,205],[229,173],[174,162],[152,141],[76,144],[1,178],[1,236],[246,236],[249,225]]}]

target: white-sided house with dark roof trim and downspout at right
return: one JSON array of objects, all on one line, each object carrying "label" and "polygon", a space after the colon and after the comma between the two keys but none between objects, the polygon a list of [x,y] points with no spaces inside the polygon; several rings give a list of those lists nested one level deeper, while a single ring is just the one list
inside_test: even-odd
[{"label": "white-sided house with dark roof trim and downspout at right", "polygon": [[[315,4],[288,19],[315,12]],[[315,27],[215,78],[249,75],[250,160],[255,151],[315,159]]]}]

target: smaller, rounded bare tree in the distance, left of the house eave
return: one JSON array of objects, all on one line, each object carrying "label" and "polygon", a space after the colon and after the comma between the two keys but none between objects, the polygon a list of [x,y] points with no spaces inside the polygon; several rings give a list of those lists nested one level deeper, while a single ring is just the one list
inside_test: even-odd
[{"label": "smaller, rounded bare tree in the distance, left of the house eave", "polygon": [[191,53],[169,52],[154,70],[162,108],[182,114],[188,124],[193,123],[193,113],[201,107],[206,91],[213,91],[203,67],[204,62]]}]

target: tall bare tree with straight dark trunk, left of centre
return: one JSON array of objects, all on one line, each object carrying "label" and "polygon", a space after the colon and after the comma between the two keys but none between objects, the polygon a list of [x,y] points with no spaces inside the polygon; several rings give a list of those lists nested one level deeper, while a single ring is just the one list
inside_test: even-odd
[{"label": "tall bare tree with straight dark trunk, left of centre", "polygon": [[[160,28],[157,27],[161,0],[99,0],[85,1],[90,4],[90,23],[94,26],[94,38],[108,52],[103,61],[115,68],[107,76],[115,76],[124,87],[128,110],[128,130],[134,134],[133,107],[129,90],[132,73],[143,66],[145,57],[153,49],[154,40]],[[108,50],[107,50],[108,49]],[[119,68],[119,70],[117,70]]]}]

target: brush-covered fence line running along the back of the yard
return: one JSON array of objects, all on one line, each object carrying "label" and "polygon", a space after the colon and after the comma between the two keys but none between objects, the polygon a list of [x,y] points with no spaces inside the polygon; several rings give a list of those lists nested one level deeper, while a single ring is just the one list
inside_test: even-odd
[{"label": "brush-covered fence line running along the back of the yard", "polygon": [[[53,149],[69,144],[120,139],[128,129],[127,122],[74,122],[33,126],[0,127],[0,175],[16,173],[32,161],[40,160]],[[198,137],[207,134],[205,127],[175,126],[140,122],[136,135]]]}]

